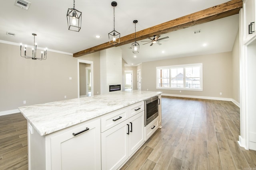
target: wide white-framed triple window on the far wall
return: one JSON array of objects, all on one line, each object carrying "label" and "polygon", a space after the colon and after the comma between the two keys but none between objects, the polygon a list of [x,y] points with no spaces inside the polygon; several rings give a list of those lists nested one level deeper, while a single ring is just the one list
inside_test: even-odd
[{"label": "wide white-framed triple window on the far wall", "polygon": [[156,88],[202,90],[202,63],[156,67]]}]

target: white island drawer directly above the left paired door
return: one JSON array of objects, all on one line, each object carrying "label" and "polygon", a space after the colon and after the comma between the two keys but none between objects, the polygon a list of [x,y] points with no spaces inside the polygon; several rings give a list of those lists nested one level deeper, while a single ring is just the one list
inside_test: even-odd
[{"label": "white island drawer directly above the left paired door", "polygon": [[128,118],[128,108],[113,111],[111,114],[101,118],[101,132],[110,129]]}]

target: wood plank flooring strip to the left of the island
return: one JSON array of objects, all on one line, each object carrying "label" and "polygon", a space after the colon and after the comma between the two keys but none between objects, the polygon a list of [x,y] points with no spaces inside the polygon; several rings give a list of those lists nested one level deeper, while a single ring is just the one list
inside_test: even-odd
[{"label": "wood plank flooring strip to the left of the island", "polygon": [[21,113],[0,116],[0,170],[28,169],[27,121]]}]

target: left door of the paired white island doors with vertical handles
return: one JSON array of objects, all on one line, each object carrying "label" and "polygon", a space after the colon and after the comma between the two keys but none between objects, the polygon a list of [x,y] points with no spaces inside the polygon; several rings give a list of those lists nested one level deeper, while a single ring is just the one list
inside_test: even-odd
[{"label": "left door of the paired white island doors with vertical handles", "polygon": [[101,133],[102,170],[116,170],[128,158],[128,121]]}]

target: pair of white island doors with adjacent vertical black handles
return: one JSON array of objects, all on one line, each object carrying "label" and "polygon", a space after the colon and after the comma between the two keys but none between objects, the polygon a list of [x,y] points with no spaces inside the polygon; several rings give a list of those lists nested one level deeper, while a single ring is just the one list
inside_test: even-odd
[{"label": "pair of white island doors with adjacent vertical black handles", "polygon": [[101,133],[102,170],[120,167],[144,141],[144,111]]}]

